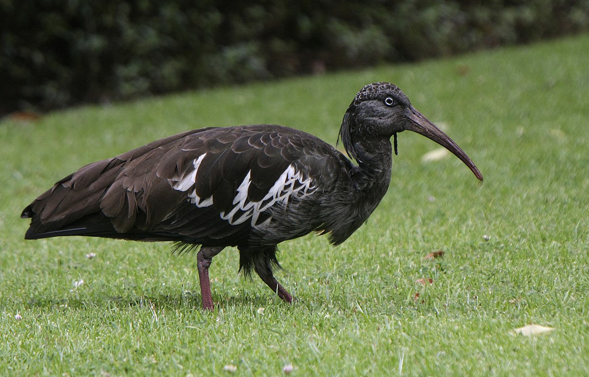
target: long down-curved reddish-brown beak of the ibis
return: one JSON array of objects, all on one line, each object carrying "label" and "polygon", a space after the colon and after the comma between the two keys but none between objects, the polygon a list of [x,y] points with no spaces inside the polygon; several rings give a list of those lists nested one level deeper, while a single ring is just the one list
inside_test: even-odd
[{"label": "long down-curved reddish-brown beak of the ibis", "polygon": [[472,170],[472,173],[474,173],[475,176],[482,181],[482,174],[478,170],[477,166],[475,166],[475,163],[472,162],[470,157],[466,156],[466,153],[464,153],[458,144],[454,143],[454,140],[452,140],[442,130],[436,127],[434,123],[431,123],[431,121],[419,113],[419,111],[415,110],[415,108],[410,108],[408,113],[408,118],[411,120],[411,122],[407,127],[405,127],[406,130],[413,131],[430,138],[436,143],[442,145],[442,147],[454,153],[454,155],[460,158],[460,160]]}]

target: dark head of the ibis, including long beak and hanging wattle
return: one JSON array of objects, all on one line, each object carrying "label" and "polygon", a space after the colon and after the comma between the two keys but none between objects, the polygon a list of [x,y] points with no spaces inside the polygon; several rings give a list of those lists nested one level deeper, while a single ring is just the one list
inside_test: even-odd
[{"label": "dark head of the ibis, including long beak and hanging wattle", "polygon": [[481,172],[466,153],[424,117],[396,85],[375,82],[363,87],[343,117],[339,137],[350,158],[361,161],[361,156],[372,140],[390,139],[409,130],[434,140],[460,158],[475,176],[482,181]]}]

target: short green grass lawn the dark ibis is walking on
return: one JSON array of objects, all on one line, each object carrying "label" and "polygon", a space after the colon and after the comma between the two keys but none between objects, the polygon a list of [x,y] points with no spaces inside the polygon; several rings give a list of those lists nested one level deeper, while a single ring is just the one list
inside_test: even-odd
[{"label": "short green grass lawn the dark ibis is walking on", "polygon": [[[231,375],[234,365],[276,376],[292,363],[294,376],[588,375],[582,51],[589,35],[3,121],[0,373]],[[169,244],[22,239],[21,210],[83,164],[213,125],[284,124],[335,143],[356,91],[379,80],[445,124],[485,181],[454,157],[422,163],[438,146],[399,135],[391,188],[365,226],[339,247],[315,236],[280,245],[277,277],[294,305],[237,275],[234,249],[213,260],[209,313],[196,257]],[[442,259],[423,259],[439,249]],[[555,330],[511,335],[529,323]]]}]

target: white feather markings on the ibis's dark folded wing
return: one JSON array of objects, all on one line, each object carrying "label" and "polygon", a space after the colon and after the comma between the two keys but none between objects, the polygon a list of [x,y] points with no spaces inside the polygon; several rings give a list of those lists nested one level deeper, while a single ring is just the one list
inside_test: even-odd
[{"label": "white feather markings on the ibis's dark folded wing", "polygon": [[[196,182],[198,167],[203,161],[206,153],[198,157],[193,161],[194,170],[187,172],[184,176],[178,179],[171,180],[170,184],[174,190],[188,191]],[[289,165],[286,170],[280,174],[280,177],[276,180],[274,185],[270,188],[268,193],[260,201],[250,201],[247,199],[247,193],[252,184],[252,171],[248,171],[246,177],[237,187],[236,196],[233,198],[233,209],[227,212],[221,212],[221,219],[227,220],[231,225],[238,225],[251,219],[253,227],[259,227],[267,224],[271,219],[267,219],[263,223],[258,224],[260,214],[266,211],[274,204],[280,204],[282,207],[286,207],[293,197],[302,198],[313,191],[316,187],[313,185],[311,178],[303,177],[300,171],[297,171],[294,166]],[[192,190],[188,193],[190,203],[193,203],[198,208],[209,207],[213,205],[213,197],[202,199],[196,194],[196,190]]]}]

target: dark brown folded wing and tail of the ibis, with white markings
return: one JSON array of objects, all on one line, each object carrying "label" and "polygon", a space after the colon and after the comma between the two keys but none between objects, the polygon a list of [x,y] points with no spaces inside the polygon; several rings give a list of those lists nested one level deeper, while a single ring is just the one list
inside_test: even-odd
[{"label": "dark brown folded wing and tail of the ibis, with white markings", "polygon": [[82,167],[23,211],[27,238],[238,244],[333,169],[329,144],[275,125],[209,128]]}]

